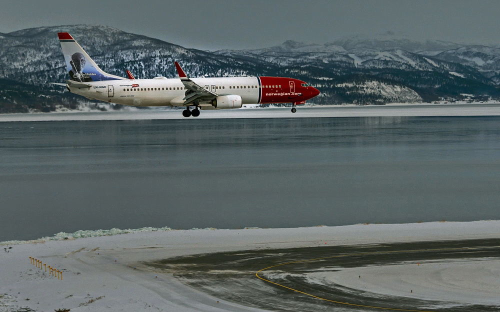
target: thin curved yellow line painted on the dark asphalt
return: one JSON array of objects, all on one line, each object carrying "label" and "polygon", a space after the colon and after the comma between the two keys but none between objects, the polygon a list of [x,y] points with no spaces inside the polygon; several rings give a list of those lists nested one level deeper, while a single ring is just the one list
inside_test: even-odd
[{"label": "thin curved yellow line painted on the dark asphalt", "polygon": [[[305,260],[297,260],[297,261],[279,263],[279,264],[275,264],[275,265],[271,265],[271,266],[262,268],[262,269],[258,270],[255,273],[255,275],[258,278],[262,279],[262,280],[270,282],[271,284],[275,284],[277,286],[281,286],[281,287],[284,287],[284,288],[287,288],[287,289],[290,289],[290,290],[293,290],[293,291],[296,291],[296,292],[300,292],[302,294],[311,296],[311,297],[316,298],[316,299],[324,300],[324,301],[329,301],[329,302],[334,302],[334,303],[340,303],[340,304],[346,304],[346,305],[352,305],[352,306],[359,306],[359,307],[370,307],[370,308],[376,308],[376,309],[393,310],[393,311],[435,312],[435,310],[433,310],[433,311],[429,311],[429,310],[411,310],[411,309],[403,309],[403,308],[362,305],[362,304],[355,304],[355,303],[349,303],[349,302],[341,302],[341,301],[330,300],[330,299],[318,297],[316,295],[313,295],[313,294],[310,294],[310,293],[307,293],[307,292],[304,292],[304,291],[293,289],[291,287],[287,287],[287,286],[279,284],[277,282],[270,281],[268,279],[265,279],[263,277],[258,276],[258,273],[260,273],[260,272],[262,272],[262,271],[264,271],[266,269],[272,268],[272,267],[286,265],[286,264],[299,263],[299,262],[307,262],[307,261],[316,261],[316,260],[322,260],[322,259],[328,259],[328,258],[339,258],[339,257],[345,257],[345,256],[352,256],[352,255],[383,254],[383,253],[403,253],[403,252],[417,252],[417,251],[446,251],[446,250],[463,250],[463,249],[471,249],[471,248],[477,248],[477,247],[457,247],[457,248],[415,249],[415,250],[395,250],[395,251],[373,251],[373,252],[348,253],[348,254],[332,255],[332,256],[326,256],[326,257],[320,257],[320,258],[314,258],[314,259],[305,259]],[[488,247],[486,247],[486,248],[488,248]]]}]

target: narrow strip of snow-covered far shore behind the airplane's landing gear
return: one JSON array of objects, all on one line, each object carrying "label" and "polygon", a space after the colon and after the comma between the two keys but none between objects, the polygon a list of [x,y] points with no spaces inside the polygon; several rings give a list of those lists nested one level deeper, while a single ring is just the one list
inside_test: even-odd
[{"label": "narrow strip of snow-covered far shore behind the airplane's landing gear", "polygon": [[[442,103],[441,103],[442,104]],[[51,113],[0,114],[1,121],[46,120],[133,120],[133,119],[184,119],[180,109],[148,109],[124,111],[68,111]],[[376,116],[496,116],[500,115],[500,103],[468,104],[392,103],[387,105],[356,106],[321,105],[297,106],[291,113],[289,107],[204,110],[200,118],[300,118],[300,117],[376,117]],[[193,117],[189,117],[193,119]]]}]

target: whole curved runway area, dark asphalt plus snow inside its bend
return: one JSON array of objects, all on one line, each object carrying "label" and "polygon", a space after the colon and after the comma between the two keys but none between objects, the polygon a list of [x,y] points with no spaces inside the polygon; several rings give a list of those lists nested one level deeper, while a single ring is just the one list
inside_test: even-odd
[{"label": "whole curved runway area, dark asphalt plus snow inside its bend", "polygon": [[[500,308],[500,290],[474,294],[473,279],[484,276],[463,264],[497,264],[499,251],[500,239],[472,239],[217,252],[146,264],[214,297],[274,311],[486,312]],[[446,270],[457,265],[459,282],[446,285]],[[404,285],[405,274],[408,289],[387,291],[384,283]],[[437,288],[429,292],[433,279]]]}]

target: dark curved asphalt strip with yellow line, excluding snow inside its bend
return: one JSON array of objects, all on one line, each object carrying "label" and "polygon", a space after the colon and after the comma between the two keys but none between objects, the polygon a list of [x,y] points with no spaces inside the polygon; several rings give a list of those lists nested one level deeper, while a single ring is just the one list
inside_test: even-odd
[{"label": "dark curved asphalt strip with yellow line, excluding snow inside its bend", "polygon": [[[273,311],[498,311],[472,305],[382,295],[330,283],[309,283],[306,274],[335,267],[414,261],[500,259],[500,239],[425,241],[218,252],[146,263],[221,300]],[[500,303],[499,303],[500,304]]]}]

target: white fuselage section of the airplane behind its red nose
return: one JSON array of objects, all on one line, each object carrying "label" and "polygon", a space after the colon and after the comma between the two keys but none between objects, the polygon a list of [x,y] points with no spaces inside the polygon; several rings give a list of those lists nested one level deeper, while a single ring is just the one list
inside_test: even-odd
[{"label": "white fuselage section of the airplane behind its red nose", "polygon": [[[256,104],[260,99],[257,77],[192,78],[192,80],[217,94],[240,95],[243,104]],[[70,87],[71,92],[88,98],[133,106],[182,106],[182,98],[186,91],[178,78],[157,77],[86,83],[91,84],[91,87]]]}]

